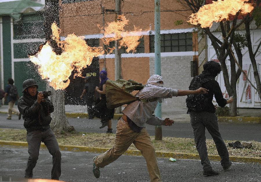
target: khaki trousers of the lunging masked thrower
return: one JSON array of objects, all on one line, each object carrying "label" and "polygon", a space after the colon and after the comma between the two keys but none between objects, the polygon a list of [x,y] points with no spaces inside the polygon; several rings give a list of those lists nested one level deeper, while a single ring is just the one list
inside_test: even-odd
[{"label": "khaki trousers of the lunging masked thrower", "polygon": [[116,137],[114,146],[99,155],[95,159],[95,165],[103,168],[118,159],[133,143],[141,151],[146,160],[148,173],[151,182],[161,182],[160,170],[157,164],[155,148],[151,143],[148,132],[143,128],[139,133],[133,131],[127,122],[122,118],[117,123]]}]

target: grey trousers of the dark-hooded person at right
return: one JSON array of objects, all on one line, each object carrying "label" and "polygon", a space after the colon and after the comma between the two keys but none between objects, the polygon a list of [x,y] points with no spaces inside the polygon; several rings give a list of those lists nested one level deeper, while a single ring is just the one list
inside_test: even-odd
[{"label": "grey trousers of the dark-hooded person at right", "polygon": [[193,135],[200,155],[203,170],[211,170],[211,164],[208,159],[208,152],[206,148],[206,133],[205,128],[212,136],[221,157],[221,165],[226,166],[229,164],[229,154],[218,128],[218,118],[215,113],[210,112],[190,112],[190,123],[193,128]]}]

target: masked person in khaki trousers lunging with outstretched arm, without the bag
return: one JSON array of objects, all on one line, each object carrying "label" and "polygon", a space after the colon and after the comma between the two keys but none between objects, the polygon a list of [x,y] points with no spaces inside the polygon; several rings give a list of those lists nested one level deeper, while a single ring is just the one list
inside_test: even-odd
[{"label": "masked person in khaki trousers lunging with outstretched arm, without the bag", "polygon": [[[197,90],[174,90],[163,86],[160,75],[152,75],[146,85],[135,95],[139,100],[129,103],[122,111],[123,116],[117,123],[115,144],[105,153],[93,158],[93,174],[100,177],[100,169],[118,159],[133,143],[144,156],[151,182],[161,181],[160,170],[157,165],[155,148],[151,142],[145,123],[149,125],[171,126],[173,120],[161,119],[153,113],[158,101],[173,96],[184,96],[187,94],[205,94],[208,90],[199,88]],[[117,93],[115,93],[117,94]]]}]

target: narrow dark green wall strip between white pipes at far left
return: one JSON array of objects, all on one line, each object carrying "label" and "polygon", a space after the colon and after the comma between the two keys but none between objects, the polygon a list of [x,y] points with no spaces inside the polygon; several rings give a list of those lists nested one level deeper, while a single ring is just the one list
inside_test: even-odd
[{"label": "narrow dark green wall strip between white pipes at far left", "polygon": [[12,77],[11,67],[11,18],[2,16],[3,26],[3,70],[4,87],[7,85],[8,78]]}]

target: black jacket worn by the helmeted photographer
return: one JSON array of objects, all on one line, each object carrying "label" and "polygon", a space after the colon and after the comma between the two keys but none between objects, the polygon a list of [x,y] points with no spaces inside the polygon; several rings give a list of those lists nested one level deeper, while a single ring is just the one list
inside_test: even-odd
[{"label": "black jacket worn by the helmeted photographer", "polygon": [[33,97],[25,92],[18,100],[18,109],[23,115],[23,126],[27,132],[50,128],[49,124],[52,120],[50,113],[54,111],[53,104],[48,98],[39,104],[37,94],[38,92]]}]

